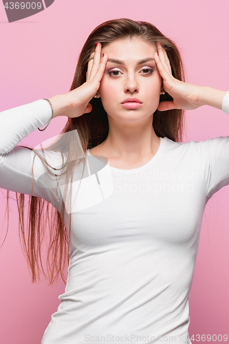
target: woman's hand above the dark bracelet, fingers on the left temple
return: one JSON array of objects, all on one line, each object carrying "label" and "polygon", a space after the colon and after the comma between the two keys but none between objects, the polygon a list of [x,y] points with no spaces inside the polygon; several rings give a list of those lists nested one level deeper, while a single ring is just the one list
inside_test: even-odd
[{"label": "woman's hand above the dark bracelet, fingers on the left temple", "polygon": [[76,89],[49,98],[54,108],[54,116],[79,117],[91,112],[92,105],[89,101],[96,95],[100,87],[100,80],[107,64],[107,54],[100,57],[102,45],[98,43],[95,52],[91,53],[91,60],[87,65],[86,82]]}]

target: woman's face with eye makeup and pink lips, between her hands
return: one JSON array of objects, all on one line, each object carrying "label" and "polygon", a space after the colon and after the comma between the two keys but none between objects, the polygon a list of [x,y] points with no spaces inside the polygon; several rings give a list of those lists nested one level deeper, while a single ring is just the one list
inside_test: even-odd
[{"label": "woman's face with eye makeup and pink lips, between her hands", "polygon": [[[107,53],[108,61],[98,95],[107,115],[127,122],[153,115],[162,87],[162,77],[153,60],[155,45],[139,38],[124,39],[102,47],[103,52]],[[134,105],[122,105],[125,99],[133,97],[142,102],[140,107],[138,103],[135,109]]]}]

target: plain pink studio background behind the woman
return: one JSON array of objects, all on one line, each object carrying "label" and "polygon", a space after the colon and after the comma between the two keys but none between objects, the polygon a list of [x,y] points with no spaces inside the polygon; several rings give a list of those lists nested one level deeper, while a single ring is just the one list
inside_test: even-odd
[{"label": "plain pink studio background behind the woman", "polygon": [[[228,14],[228,0],[55,0],[33,17],[8,23],[1,2],[0,111],[68,92],[89,33],[103,21],[123,17],[149,21],[173,39],[182,52],[189,83],[228,91]],[[57,135],[65,121],[66,117],[54,118],[48,129],[34,131],[21,143],[35,147]],[[186,113],[186,127],[185,142],[228,136],[229,116],[201,107]],[[1,224],[5,205],[1,201]],[[10,207],[8,237],[0,250],[0,343],[39,344],[65,285],[59,281],[51,288],[44,279],[31,283],[19,244],[16,202]],[[190,338],[229,336],[228,209],[229,186],[225,186],[204,212],[190,296]],[[1,243],[5,233],[6,222]]]}]

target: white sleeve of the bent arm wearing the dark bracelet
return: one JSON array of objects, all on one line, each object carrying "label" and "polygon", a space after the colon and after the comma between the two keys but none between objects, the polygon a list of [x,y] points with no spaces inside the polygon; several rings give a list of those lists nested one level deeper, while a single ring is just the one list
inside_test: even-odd
[{"label": "white sleeve of the bent arm wearing the dark bracelet", "polygon": [[[42,197],[55,206],[59,202],[55,178],[50,179],[34,151],[16,147],[29,133],[43,127],[51,116],[51,107],[43,99],[0,113],[0,187]],[[46,157],[51,157],[52,154],[56,153],[50,152]]]}]

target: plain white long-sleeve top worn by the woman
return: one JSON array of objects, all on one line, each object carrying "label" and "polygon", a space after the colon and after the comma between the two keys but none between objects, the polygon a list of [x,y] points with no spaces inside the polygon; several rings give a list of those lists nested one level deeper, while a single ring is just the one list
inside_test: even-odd
[{"label": "plain white long-sleeve top worn by the woman", "polygon": [[[229,92],[223,98],[229,115]],[[45,100],[0,113],[0,187],[60,210],[63,185],[16,145],[51,117]],[[56,164],[57,153],[46,158]],[[191,343],[188,300],[206,203],[229,184],[229,136],[187,143],[160,138],[153,158],[116,169],[87,150],[72,183],[67,286],[42,344]],[[80,175],[80,174],[79,174]],[[78,193],[76,194],[76,191]],[[56,197],[54,195],[56,193]]]}]

